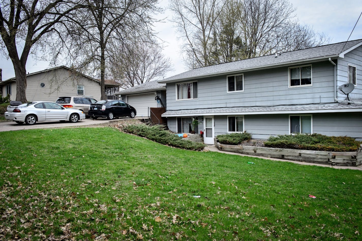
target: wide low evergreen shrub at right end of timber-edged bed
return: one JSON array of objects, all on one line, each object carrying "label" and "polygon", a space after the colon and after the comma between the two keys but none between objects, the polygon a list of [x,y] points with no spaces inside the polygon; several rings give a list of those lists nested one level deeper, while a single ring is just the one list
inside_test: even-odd
[{"label": "wide low evergreen shrub at right end of timber-edged bed", "polygon": [[266,147],[328,152],[355,152],[362,144],[348,136],[325,136],[321,134],[296,134],[270,136]]}]

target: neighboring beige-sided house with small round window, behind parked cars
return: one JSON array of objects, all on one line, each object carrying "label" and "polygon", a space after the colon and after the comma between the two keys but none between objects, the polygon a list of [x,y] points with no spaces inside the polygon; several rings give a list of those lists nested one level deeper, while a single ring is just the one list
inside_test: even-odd
[{"label": "neighboring beige-sided house with small round window, behind parked cars", "polygon": [[[101,100],[101,83],[66,66],[26,75],[27,101],[56,101],[60,96],[88,96]],[[16,79],[0,82],[3,96],[16,100]],[[0,91],[1,92],[1,91]]]}]

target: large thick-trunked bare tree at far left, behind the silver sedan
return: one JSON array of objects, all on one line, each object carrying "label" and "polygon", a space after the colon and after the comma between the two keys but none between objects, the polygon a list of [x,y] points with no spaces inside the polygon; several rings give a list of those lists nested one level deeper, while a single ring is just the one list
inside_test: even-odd
[{"label": "large thick-trunked bare tree at far left, behind the silver sedan", "polygon": [[70,0],[0,1],[0,47],[14,66],[17,101],[26,102],[28,56],[34,54],[39,45],[47,45],[56,25],[78,7],[78,3]]}]

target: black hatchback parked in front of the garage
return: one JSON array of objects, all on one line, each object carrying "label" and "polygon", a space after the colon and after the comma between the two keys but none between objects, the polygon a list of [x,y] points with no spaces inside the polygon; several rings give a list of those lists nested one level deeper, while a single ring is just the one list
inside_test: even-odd
[{"label": "black hatchback parked in front of the garage", "polygon": [[101,100],[89,106],[88,115],[93,119],[107,117],[111,120],[117,117],[134,118],[136,109],[121,100]]}]

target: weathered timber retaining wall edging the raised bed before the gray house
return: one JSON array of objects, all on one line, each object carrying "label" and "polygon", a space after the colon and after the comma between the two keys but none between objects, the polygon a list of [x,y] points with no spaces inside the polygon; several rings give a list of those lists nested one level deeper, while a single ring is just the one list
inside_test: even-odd
[{"label": "weathered timber retaining wall edging the raised bed before the gray house", "polygon": [[227,152],[332,166],[358,166],[362,164],[362,148],[359,148],[357,152],[324,152],[269,147],[249,147],[242,145],[223,145],[216,139],[215,146],[219,150]]}]

